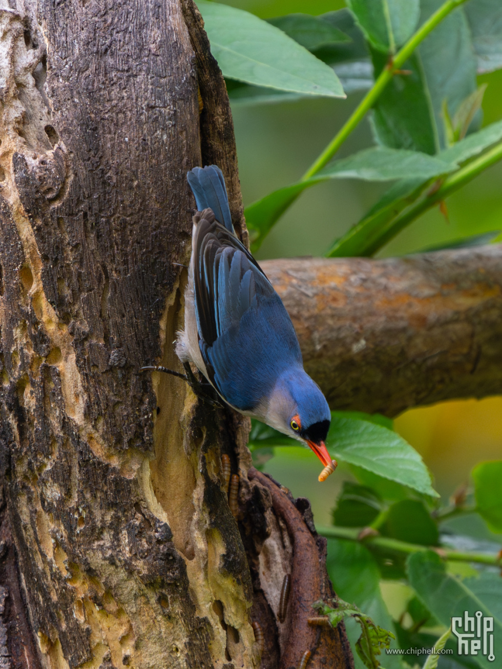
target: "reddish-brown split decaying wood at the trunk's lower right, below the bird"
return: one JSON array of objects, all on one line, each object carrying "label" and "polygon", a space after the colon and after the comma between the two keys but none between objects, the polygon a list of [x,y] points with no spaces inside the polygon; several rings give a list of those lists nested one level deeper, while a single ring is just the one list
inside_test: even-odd
[{"label": "reddish-brown split decaying wood at the trunk's lower right, below the bird", "polygon": [[[270,527],[280,528],[280,532],[270,533],[259,543],[255,559],[251,561],[253,587],[263,593],[276,615],[279,669],[298,666],[306,650],[311,652],[309,666],[353,667],[343,625],[320,630],[307,622],[315,615],[314,601],[328,601],[334,596],[325,571],[326,540],[315,532],[308,500],[293,500],[290,493],[282,492],[280,484],[254,468],[249,470],[248,478],[270,494],[272,504],[267,514],[268,522]],[[278,559],[279,555],[282,559]],[[287,570],[290,570],[290,593],[282,617],[281,594],[284,576],[289,575]],[[270,625],[266,621],[262,624],[260,619],[258,622],[264,629],[266,640]],[[265,662],[262,666],[268,664]]]}]

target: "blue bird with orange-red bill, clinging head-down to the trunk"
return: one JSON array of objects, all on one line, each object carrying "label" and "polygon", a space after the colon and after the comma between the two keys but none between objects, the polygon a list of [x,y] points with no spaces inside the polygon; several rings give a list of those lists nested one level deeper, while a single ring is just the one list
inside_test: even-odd
[{"label": "blue bird with orange-red bill, clinging head-down to the trunk", "polygon": [[222,171],[194,167],[192,250],[184,328],[175,351],[193,363],[219,397],[333,462],[325,442],[328,403],[303,369],[291,319],[270,281],[238,239]]}]

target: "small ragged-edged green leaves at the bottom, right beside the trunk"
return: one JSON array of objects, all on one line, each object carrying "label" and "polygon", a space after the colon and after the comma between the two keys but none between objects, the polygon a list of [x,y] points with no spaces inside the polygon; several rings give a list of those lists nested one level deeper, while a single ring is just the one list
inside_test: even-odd
[{"label": "small ragged-edged green leaves at the bottom, right beside the trunk", "polygon": [[354,604],[349,604],[342,599],[337,599],[335,604],[335,609],[323,601],[316,601],[312,606],[321,615],[327,615],[333,627],[345,617],[353,617],[357,620],[361,626],[361,636],[355,643],[357,654],[368,669],[380,669],[382,665],[376,656],[381,654],[382,648],[389,648],[391,640],[396,638],[394,634],[375,625],[371,617]]}]

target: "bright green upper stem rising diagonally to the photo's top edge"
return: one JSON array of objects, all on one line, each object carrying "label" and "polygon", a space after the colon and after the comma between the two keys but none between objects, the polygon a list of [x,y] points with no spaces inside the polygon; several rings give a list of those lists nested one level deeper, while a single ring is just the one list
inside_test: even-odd
[{"label": "bright green upper stem rising diagonally to the photo's top edge", "polygon": [[438,25],[438,23],[440,23],[442,19],[444,19],[444,17],[446,17],[456,7],[465,3],[465,1],[466,0],[446,0],[446,2],[441,5],[441,7],[435,11],[434,14],[432,14],[432,16],[427,19],[427,21],[425,21],[425,23],[416,31],[416,33],[414,33],[414,35],[408,39],[404,47],[398,51],[396,56],[394,56],[394,58],[388,62],[388,65],[384,68],[384,70],[380,72],[380,75],[373,84],[373,87],[367,92],[363,100],[359,102],[357,108],[355,108],[350,118],[341,127],[339,132],[337,132],[323,153],[321,153],[315,163],[313,163],[307,172],[305,172],[301,178],[301,181],[307,181],[307,179],[313,177],[326,165],[328,161],[331,160],[331,158],[333,158],[349,134],[351,134],[359,122],[361,122],[366,112],[371,109],[373,104],[375,104],[376,100],[380,97],[380,94],[382,94],[382,91],[394,76],[394,72],[401,69],[404,62],[410,58],[416,47],[418,47],[420,42],[425,39],[425,37],[427,37],[432,29],[434,29],[436,25]]}]

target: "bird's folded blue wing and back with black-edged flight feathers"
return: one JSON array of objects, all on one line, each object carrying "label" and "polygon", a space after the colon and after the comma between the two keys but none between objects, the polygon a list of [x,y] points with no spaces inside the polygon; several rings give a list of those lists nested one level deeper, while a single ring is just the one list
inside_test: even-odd
[{"label": "bird's folded blue wing and back with black-edged flight feathers", "polygon": [[279,370],[301,364],[295,330],[256,260],[212,211],[201,213],[194,242],[199,349],[222,397],[249,411]]}]

